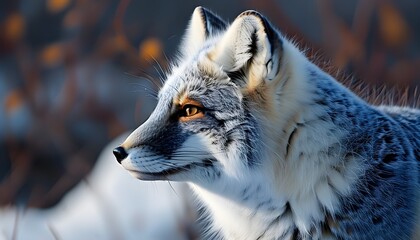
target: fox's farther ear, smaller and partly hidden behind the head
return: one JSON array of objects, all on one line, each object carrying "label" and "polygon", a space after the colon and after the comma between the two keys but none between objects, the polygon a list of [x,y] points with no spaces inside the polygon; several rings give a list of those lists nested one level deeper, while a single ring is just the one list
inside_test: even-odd
[{"label": "fox's farther ear, smaller and partly hidden behind the head", "polygon": [[196,52],[209,37],[224,31],[226,26],[214,13],[203,7],[196,7],[184,36],[181,53],[187,55]]}]

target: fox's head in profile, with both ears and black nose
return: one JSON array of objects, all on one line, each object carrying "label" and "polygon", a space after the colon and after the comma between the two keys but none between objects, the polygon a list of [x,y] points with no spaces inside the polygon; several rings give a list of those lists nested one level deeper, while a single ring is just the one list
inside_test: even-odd
[{"label": "fox's head in profile, with both ears and black nose", "polygon": [[[275,152],[284,41],[255,11],[231,25],[197,7],[179,62],[148,120],[114,155],[142,180],[214,182],[261,168]],[[271,147],[270,147],[271,146]]]}]

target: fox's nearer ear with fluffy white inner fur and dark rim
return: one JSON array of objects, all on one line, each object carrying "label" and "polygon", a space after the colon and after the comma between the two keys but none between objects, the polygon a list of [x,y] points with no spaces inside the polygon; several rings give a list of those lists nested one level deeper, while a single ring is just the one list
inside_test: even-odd
[{"label": "fox's nearer ear with fluffy white inner fur and dark rim", "polygon": [[282,40],[266,18],[256,11],[240,14],[209,58],[227,72],[243,69],[248,84],[256,86],[273,80],[278,72],[282,53]]}]

